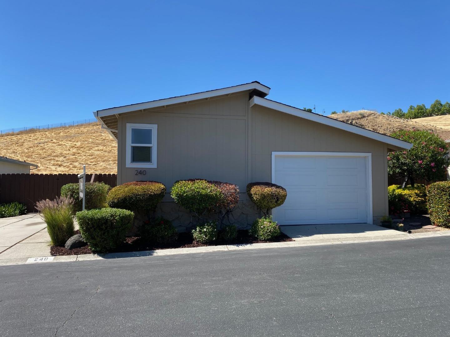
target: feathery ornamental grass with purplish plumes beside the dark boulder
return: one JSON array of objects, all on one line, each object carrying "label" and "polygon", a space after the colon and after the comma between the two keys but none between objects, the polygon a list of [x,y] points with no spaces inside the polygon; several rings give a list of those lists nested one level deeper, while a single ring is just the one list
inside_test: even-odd
[{"label": "feathery ornamental grass with purplish plumes beside the dark boulder", "polygon": [[36,203],[36,209],[42,213],[51,244],[63,246],[75,231],[73,224],[73,204],[71,197],[56,197],[55,200],[40,200]]}]

